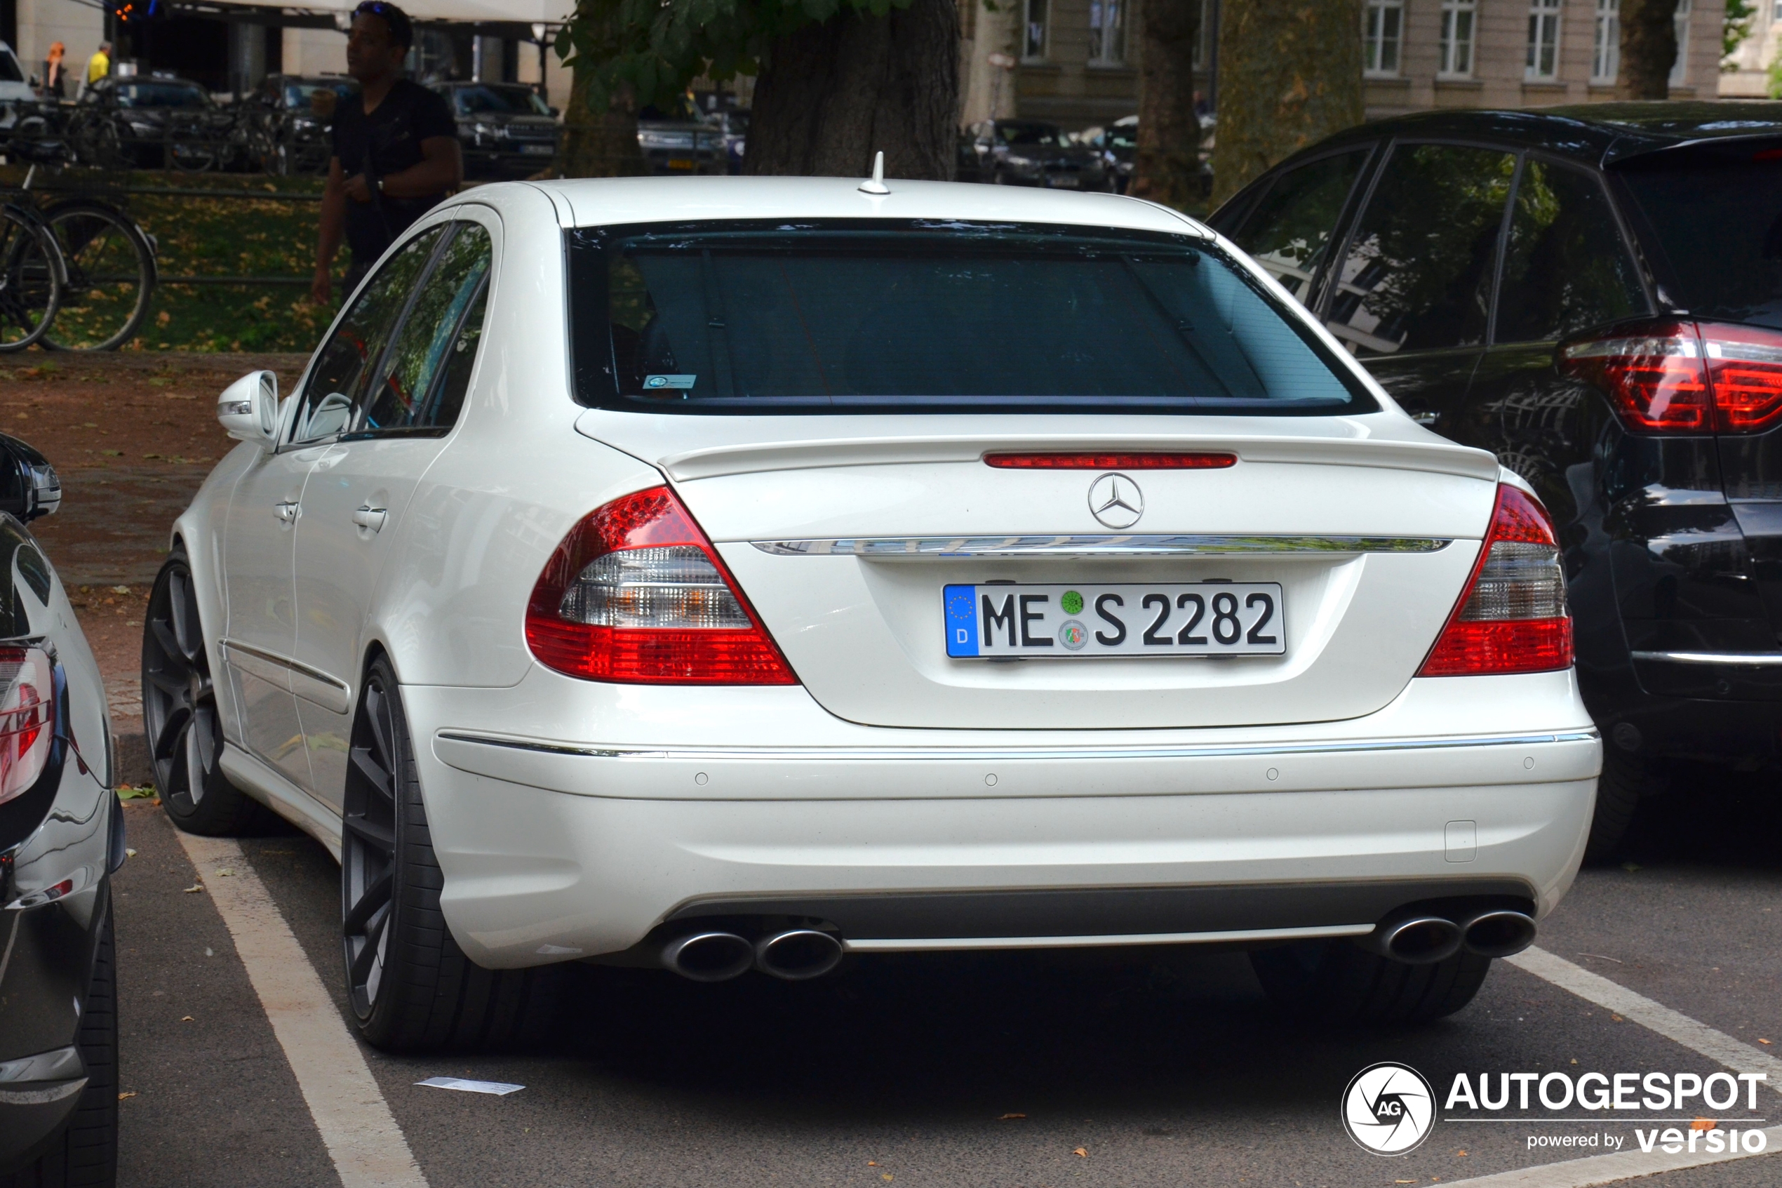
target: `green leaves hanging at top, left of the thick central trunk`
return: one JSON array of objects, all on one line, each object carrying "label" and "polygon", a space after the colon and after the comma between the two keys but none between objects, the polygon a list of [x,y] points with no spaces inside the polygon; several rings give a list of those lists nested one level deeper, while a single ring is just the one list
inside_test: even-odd
[{"label": "green leaves hanging at top, left of the thick central trunk", "polygon": [[841,12],[886,16],[911,0],[579,0],[558,34],[565,64],[592,66],[588,105],[613,94],[661,103],[700,75],[723,82],[761,71],[773,41]]}]

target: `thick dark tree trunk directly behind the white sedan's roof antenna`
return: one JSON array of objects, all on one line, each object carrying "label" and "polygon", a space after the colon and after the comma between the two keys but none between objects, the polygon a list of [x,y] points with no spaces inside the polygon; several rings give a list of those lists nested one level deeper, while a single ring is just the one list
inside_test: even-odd
[{"label": "thick dark tree trunk directly behind the white sedan's roof antenna", "polygon": [[775,41],[756,78],[743,173],[946,182],[959,135],[959,12],[914,0]]}]

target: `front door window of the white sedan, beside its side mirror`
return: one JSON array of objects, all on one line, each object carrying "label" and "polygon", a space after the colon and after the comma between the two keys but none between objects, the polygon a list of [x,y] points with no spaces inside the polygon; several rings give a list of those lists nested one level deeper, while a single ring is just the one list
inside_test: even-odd
[{"label": "front door window of the white sedan, beside its side mirror", "polygon": [[365,399],[371,370],[390,342],[428,258],[446,228],[428,228],[408,240],[360,290],[353,308],[323,344],[303,388],[292,442],[319,442],[342,433]]}]

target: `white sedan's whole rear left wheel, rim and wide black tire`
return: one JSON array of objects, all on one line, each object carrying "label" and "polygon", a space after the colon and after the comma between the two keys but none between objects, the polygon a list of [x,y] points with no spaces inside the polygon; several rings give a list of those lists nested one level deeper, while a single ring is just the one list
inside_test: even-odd
[{"label": "white sedan's whole rear left wheel, rim and wide black tire", "polygon": [[390,661],[365,675],[346,777],[340,944],[347,1003],[365,1042],[385,1051],[533,1044],[556,1029],[567,971],[483,969],[440,912],[403,695]]}]

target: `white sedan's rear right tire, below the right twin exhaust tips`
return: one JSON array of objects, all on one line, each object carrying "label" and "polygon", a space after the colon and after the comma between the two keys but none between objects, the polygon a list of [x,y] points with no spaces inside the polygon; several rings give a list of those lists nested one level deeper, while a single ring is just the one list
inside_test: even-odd
[{"label": "white sedan's rear right tire, below the right twin exhaust tips", "polygon": [[1349,940],[1308,940],[1249,955],[1263,992],[1315,1022],[1404,1026],[1445,1019],[1474,999],[1490,956],[1461,949],[1443,962],[1406,965]]}]

